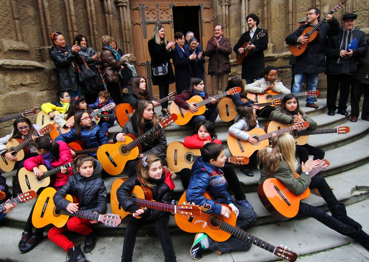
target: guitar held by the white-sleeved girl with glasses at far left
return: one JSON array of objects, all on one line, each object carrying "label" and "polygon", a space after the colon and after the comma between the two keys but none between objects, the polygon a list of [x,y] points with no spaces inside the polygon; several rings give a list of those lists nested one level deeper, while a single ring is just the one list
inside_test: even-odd
[{"label": "guitar held by the white-sleeved girl with glasses at far left", "polygon": [[[45,127],[41,128],[35,136],[45,135],[49,133],[54,127],[51,124],[46,125]],[[13,138],[7,142],[5,145],[7,147],[7,152],[11,152],[13,156],[17,156],[18,160],[21,161],[25,156],[30,155],[30,148],[28,144],[32,142],[32,137],[27,139],[21,138]],[[0,168],[4,172],[10,172],[14,169],[14,165],[17,161],[11,161],[7,159],[5,156],[0,155]]]}]

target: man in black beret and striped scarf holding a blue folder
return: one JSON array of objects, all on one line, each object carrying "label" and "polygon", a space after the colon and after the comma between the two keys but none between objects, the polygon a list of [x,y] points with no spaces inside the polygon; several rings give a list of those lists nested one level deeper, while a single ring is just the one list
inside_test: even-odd
[{"label": "man in black beret and striped scarf holding a blue folder", "polygon": [[[352,79],[358,68],[358,59],[363,57],[368,49],[365,33],[355,28],[355,20],[358,15],[344,14],[341,22],[341,30],[334,37],[328,37],[327,41],[327,107],[328,116],[334,116],[336,109],[338,114],[347,116],[346,104],[349,96]],[[348,45],[352,41],[357,44]],[[338,106],[336,106],[339,92]]]}]

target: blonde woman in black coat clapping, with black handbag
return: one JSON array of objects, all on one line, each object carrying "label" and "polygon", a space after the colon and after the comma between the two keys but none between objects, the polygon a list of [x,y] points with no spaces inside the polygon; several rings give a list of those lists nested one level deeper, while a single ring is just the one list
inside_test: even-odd
[{"label": "blonde woman in black coat clapping, with black handbag", "polygon": [[[172,64],[170,63],[174,45],[175,42],[168,43],[166,40],[164,27],[162,25],[155,25],[152,37],[147,42],[147,46],[151,57],[152,84],[154,86],[159,86],[160,99],[168,96],[169,85],[175,81]],[[153,68],[162,65],[168,66],[168,73],[163,76],[154,76]],[[162,113],[168,114],[168,101],[163,102],[161,106]]]}]

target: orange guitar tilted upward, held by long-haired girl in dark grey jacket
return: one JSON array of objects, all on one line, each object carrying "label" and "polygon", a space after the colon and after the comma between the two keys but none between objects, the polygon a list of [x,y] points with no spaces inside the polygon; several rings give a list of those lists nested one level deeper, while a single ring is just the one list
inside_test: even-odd
[{"label": "orange guitar tilted upward, held by long-haired girl in dark grey jacket", "polygon": [[171,114],[138,138],[132,134],[127,134],[124,136],[124,142],[101,145],[99,149],[97,149],[97,159],[103,165],[104,170],[110,175],[119,175],[123,172],[125,163],[129,160],[136,159],[141,153],[141,143],[145,141],[146,138],[151,137],[162,128],[168,127],[168,125],[172,124],[176,119],[177,115]]}]

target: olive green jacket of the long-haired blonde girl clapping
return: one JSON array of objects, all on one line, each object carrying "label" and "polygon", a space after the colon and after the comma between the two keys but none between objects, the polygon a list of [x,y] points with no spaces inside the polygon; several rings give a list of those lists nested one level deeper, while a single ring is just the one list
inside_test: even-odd
[{"label": "olive green jacket of the long-haired blonde girl clapping", "polygon": [[[279,167],[273,177],[280,180],[292,193],[296,195],[304,193],[311,182],[311,178],[305,173],[296,179],[287,164],[283,161],[279,162]],[[260,172],[259,184],[264,182],[267,178],[265,167],[263,167]]]}]

